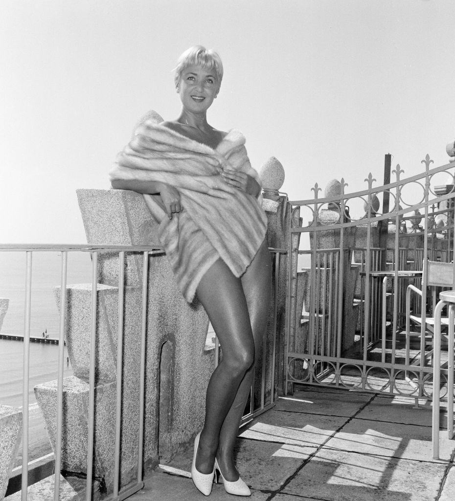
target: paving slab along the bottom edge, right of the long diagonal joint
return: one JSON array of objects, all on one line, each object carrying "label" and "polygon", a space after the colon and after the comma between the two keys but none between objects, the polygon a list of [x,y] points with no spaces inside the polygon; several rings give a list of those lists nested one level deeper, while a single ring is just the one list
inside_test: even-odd
[{"label": "paving slab along the bottom edge, right of the long diagonal joint", "polygon": [[446,464],[322,448],[282,493],[326,501],[430,501]]}]

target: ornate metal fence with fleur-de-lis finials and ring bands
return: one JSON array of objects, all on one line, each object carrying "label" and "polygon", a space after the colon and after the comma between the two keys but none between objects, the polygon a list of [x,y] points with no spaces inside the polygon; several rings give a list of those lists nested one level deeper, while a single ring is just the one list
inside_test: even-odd
[{"label": "ornate metal fence with fleur-de-lis finials and ring bands", "polygon": [[[406,287],[409,282],[421,286],[422,300],[415,302],[414,312],[429,313],[431,292],[422,277],[422,262],[426,257],[453,259],[455,163],[430,169],[428,155],[422,163],[423,172],[405,179],[397,165],[396,180],[383,186],[373,187],[369,174],[367,189],[345,193],[341,179],[333,196],[319,198],[316,183],[314,198],[290,202],[303,219],[290,220],[290,242],[302,237],[297,248],[290,243],[291,253],[307,255],[311,263],[309,270],[299,272],[297,259],[290,259],[287,314],[297,304],[294,277],[306,273],[308,287],[300,340],[293,319],[286,324],[286,391],[304,383],[430,398],[428,357],[406,365],[400,352]],[[452,182],[435,186],[441,176]],[[355,209],[359,203],[363,210]],[[360,325],[353,328],[353,322]],[[419,331],[424,339],[424,322]],[[425,346],[422,342],[423,350]],[[402,384],[407,371],[418,381],[415,387]]]}]

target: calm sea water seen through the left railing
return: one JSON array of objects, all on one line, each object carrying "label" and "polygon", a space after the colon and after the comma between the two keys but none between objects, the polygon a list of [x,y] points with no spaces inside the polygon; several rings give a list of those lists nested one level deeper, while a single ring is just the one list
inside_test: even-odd
[{"label": "calm sea water seen through the left railing", "polygon": [[[60,287],[61,253],[34,252],[32,257],[32,298],[30,335],[59,337],[59,311],[54,289]],[[89,253],[69,252],[67,284],[91,283]],[[24,334],[26,288],[25,252],[0,252],[0,298],[10,304],[0,332]],[[36,384],[57,379],[58,345],[30,343],[30,403],[36,402],[33,388]],[[0,404],[22,405],[24,343],[0,338]],[[64,355],[65,376],[71,365]],[[68,360],[68,361],[67,361]]]}]

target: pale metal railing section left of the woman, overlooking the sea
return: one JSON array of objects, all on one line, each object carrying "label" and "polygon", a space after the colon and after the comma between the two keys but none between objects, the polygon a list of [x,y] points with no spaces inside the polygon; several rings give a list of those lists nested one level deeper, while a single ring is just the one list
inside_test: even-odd
[{"label": "pale metal railing section left of the woman, overlooking the sea", "polygon": [[[58,501],[60,494],[60,471],[62,469],[62,431],[63,431],[63,367],[65,347],[65,315],[67,266],[69,252],[88,252],[92,255],[92,293],[91,293],[91,332],[90,332],[90,376],[89,376],[89,405],[88,405],[88,446],[87,446],[87,481],[86,499],[92,499],[93,489],[93,459],[94,459],[94,426],[95,426],[95,344],[97,319],[97,285],[98,285],[98,255],[100,253],[119,254],[119,282],[118,282],[118,339],[117,339],[117,399],[116,399],[116,426],[115,426],[115,464],[113,501],[125,499],[143,487],[142,482],[142,444],[143,444],[143,415],[144,415],[144,367],[145,367],[145,317],[147,301],[147,270],[148,256],[153,253],[162,253],[160,246],[130,246],[130,245],[55,245],[55,244],[9,244],[0,245],[0,252],[25,252],[26,254],[26,293],[25,293],[25,322],[24,322],[24,355],[23,355],[23,416],[22,416],[22,484],[21,499],[27,501],[29,457],[29,365],[30,365],[30,316],[31,316],[31,286],[32,286],[32,258],[34,252],[61,252],[61,284],[60,284],[60,329],[58,355],[58,387],[57,387],[57,426],[55,443],[55,482],[54,500]],[[119,461],[120,461],[120,426],[121,426],[121,392],[122,392],[122,353],[123,353],[123,310],[124,310],[124,260],[125,252],[143,254],[143,281],[142,281],[142,328],[141,328],[141,360],[140,360],[140,399],[139,399],[139,451],[137,462],[137,481],[119,489]]]}]

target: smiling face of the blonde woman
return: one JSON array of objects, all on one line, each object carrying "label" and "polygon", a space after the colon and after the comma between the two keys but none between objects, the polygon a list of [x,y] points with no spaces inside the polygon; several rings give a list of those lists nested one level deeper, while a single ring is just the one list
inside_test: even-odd
[{"label": "smiling face of the blonde woman", "polygon": [[218,82],[214,69],[191,65],[182,71],[179,95],[186,110],[192,113],[205,112],[217,92]]}]

